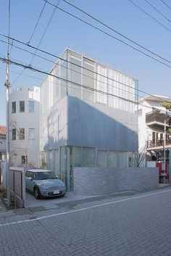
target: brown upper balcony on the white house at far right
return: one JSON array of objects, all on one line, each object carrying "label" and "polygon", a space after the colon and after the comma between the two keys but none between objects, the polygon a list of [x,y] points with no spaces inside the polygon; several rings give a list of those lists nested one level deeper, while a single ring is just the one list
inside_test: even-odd
[{"label": "brown upper balcony on the white house at far right", "polygon": [[166,127],[170,127],[170,116],[162,112],[149,112],[146,114],[146,125],[154,131],[164,133],[164,120],[166,120]]}]

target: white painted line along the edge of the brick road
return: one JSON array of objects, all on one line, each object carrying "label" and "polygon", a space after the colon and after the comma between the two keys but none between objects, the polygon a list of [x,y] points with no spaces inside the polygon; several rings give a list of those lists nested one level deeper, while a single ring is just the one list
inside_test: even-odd
[{"label": "white painted line along the edge of the brick road", "polygon": [[43,219],[46,219],[46,218],[56,217],[56,216],[59,216],[59,215],[67,215],[67,214],[70,214],[70,213],[73,213],[73,212],[80,212],[80,211],[89,210],[89,209],[93,209],[93,208],[97,208],[97,207],[103,207],[103,206],[106,206],[106,205],[114,205],[114,204],[117,204],[119,202],[125,202],[125,201],[129,201],[129,200],[143,198],[143,197],[151,197],[151,196],[155,196],[157,194],[164,194],[164,193],[167,193],[167,192],[170,192],[170,191],[171,191],[171,189],[167,189],[167,190],[164,190],[164,191],[151,193],[151,194],[145,194],[145,195],[141,195],[141,196],[138,196],[138,197],[130,197],[130,198],[126,198],[126,199],[117,200],[117,201],[114,201],[114,202],[106,202],[106,203],[101,204],[101,205],[93,205],[93,206],[89,206],[89,207],[85,207],[85,208],[80,208],[80,209],[77,209],[77,210],[70,210],[68,212],[54,213],[54,214],[51,214],[51,215],[46,215],[46,216],[31,219],[31,220],[30,219],[28,219],[28,220],[18,220],[18,221],[14,221],[14,222],[11,222],[11,223],[9,222],[9,223],[0,224],[0,227],[10,226],[10,225],[15,225],[15,224],[20,224],[20,223],[27,223],[27,222],[32,222],[32,221],[36,221],[36,220],[43,220]]}]

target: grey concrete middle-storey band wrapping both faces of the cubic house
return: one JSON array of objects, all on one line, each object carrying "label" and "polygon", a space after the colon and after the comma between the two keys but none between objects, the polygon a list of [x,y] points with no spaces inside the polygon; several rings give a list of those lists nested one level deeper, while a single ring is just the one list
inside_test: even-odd
[{"label": "grey concrete middle-storey band wrapping both faces of the cubic house", "polygon": [[51,107],[45,151],[65,145],[138,150],[137,115],[72,96],[67,96],[66,104],[67,111],[66,106],[63,111]]}]

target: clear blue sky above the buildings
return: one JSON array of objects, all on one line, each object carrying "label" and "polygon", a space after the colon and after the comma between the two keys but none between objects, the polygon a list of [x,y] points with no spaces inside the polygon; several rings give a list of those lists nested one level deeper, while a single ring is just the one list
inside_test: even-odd
[{"label": "clear blue sky above the buildings", "polygon": [[[107,36],[107,34],[75,19],[75,17],[71,17],[60,9],[55,9],[54,11],[54,7],[48,2],[45,4],[44,0],[11,0],[10,23],[9,0],[0,0],[0,34],[4,36],[9,34],[12,38],[25,44],[30,41],[30,46],[38,47],[55,56],[60,56],[64,49],[70,47],[138,79],[139,89],[144,91],[144,93],[140,91],[140,97],[147,94],[170,96],[171,3],[169,0],[69,1],[123,36],[158,54],[163,59],[131,43],[113,30],[109,30],[109,28],[99,24],[99,22],[92,20],[91,17],[74,9],[63,0],[48,1],[51,4],[57,4],[65,12],[70,12],[72,15],[91,23],[91,25],[98,27],[111,36]],[[133,3],[143,9],[144,12]],[[43,9],[44,4],[45,7]],[[38,21],[40,14],[41,17]],[[36,26],[37,22],[38,25]],[[7,57],[7,38],[1,35],[0,57],[4,58]],[[113,37],[125,41],[126,44],[130,44],[136,49],[149,54],[160,62],[147,57],[128,45],[122,44],[121,41]],[[37,51],[36,54],[46,57],[51,62],[36,56],[31,61],[33,54],[22,49],[32,53],[35,52],[34,49],[12,40],[10,40],[10,44],[12,46],[9,45],[9,59],[14,62],[32,65],[40,70],[49,72],[53,66],[52,62],[57,61],[57,57],[51,57],[40,51]],[[16,46],[21,49],[17,49]],[[161,62],[164,62],[165,65]],[[5,73],[6,64],[0,60],[0,125],[6,124]],[[40,86],[43,78],[45,78],[45,75],[30,70],[23,71],[22,67],[16,65],[10,65],[9,67],[9,81],[12,85],[10,91],[16,86]]]}]

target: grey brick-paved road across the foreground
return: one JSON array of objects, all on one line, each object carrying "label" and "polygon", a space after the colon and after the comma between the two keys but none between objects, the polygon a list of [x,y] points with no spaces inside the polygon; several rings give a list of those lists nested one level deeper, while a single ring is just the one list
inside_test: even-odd
[{"label": "grey brick-paved road across the foreground", "polygon": [[0,215],[0,255],[170,256],[171,189]]}]

